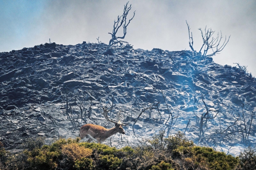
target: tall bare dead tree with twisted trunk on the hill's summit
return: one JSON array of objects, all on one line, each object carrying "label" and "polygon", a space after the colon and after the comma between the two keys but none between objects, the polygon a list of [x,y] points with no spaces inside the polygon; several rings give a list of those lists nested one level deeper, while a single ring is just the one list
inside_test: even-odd
[{"label": "tall bare dead tree with twisted trunk on the hill's summit", "polygon": [[[117,21],[114,20],[113,32],[109,33],[109,34],[112,35],[112,38],[109,41],[109,45],[115,45],[115,44],[118,44],[118,43],[120,43],[120,45],[122,45],[123,42],[128,43],[128,42],[123,41],[123,40],[118,40],[118,39],[124,39],[125,38],[127,26],[129,25],[130,21],[133,19],[134,15],[135,15],[135,11],[134,11],[132,18],[129,21],[127,21],[127,15],[129,13],[129,11],[131,10],[131,5],[129,7],[127,6],[128,3],[129,3],[129,1],[125,4],[123,15],[121,15],[121,16],[118,15]],[[124,35],[122,37],[117,37],[116,34],[117,34],[118,29],[120,27],[123,27]]]}]

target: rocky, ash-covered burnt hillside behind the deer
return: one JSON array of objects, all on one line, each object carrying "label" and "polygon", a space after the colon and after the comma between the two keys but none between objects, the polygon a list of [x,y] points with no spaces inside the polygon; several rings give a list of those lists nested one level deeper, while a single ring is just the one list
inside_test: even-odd
[{"label": "rocky, ash-covered burnt hillside behind the deer", "polygon": [[[191,51],[83,42],[0,53],[0,135],[12,152],[26,138],[77,137],[83,124],[128,123],[106,144],[123,147],[165,130],[238,154],[255,144],[256,80],[243,67]],[[160,103],[158,103],[160,102]],[[229,149],[229,150],[228,150]]]}]

